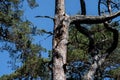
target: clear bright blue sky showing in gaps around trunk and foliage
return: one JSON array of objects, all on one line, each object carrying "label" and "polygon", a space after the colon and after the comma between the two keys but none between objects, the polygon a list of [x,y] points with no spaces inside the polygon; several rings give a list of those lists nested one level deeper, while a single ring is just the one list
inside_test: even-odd
[{"label": "clear bright blue sky showing in gaps around trunk and foliage", "polygon": [[[26,0],[25,0],[26,1]],[[28,4],[24,3],[24,19],[28,19],[33,22],[35,26],[40,29],[45,29],[48,31],[53,30],[53,22],[50,19],[43,19],[43,18],[35,18],[35,16],[52,16],[54,17],[54,2],[55,0],[36,0],[39,3],[39,7],[35,9],[30,9]],[[87,2],[87,14],[88,15],[96,15],[97,14],[97,3],[96,0],[85,0]],[[79,0],[65,0],[66,3],[66,13],[69,15],[75,15],[79,12]],[[51,49],[52,46],[52,38],[49,37],[47,39],[46,36],[34,36],[34,42],[40,42],[41,45],[48,50]],[[1,44],[1,43],[0,43]],[[43,54],[46,56],[46,53]],[[13,72],[11,67],[8,67],[9,64],[7,62],[10,60],[9,54],[7,51],[0,52],[0,76],[4,74],[10,74]]]}]

